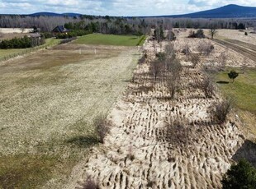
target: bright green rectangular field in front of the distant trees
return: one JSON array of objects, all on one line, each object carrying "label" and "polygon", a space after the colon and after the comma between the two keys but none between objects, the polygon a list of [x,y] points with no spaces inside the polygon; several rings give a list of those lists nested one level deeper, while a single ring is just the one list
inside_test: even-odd
[{"label": "bright green rectangular field in front of the distant trees", "polygon": [[103,45],[118,45],[118,46],[137,46],[145,42],[145,36],[135,35],[102,35],[92,34],[84,35],[74,41],[74,44],[103,44]]}]

